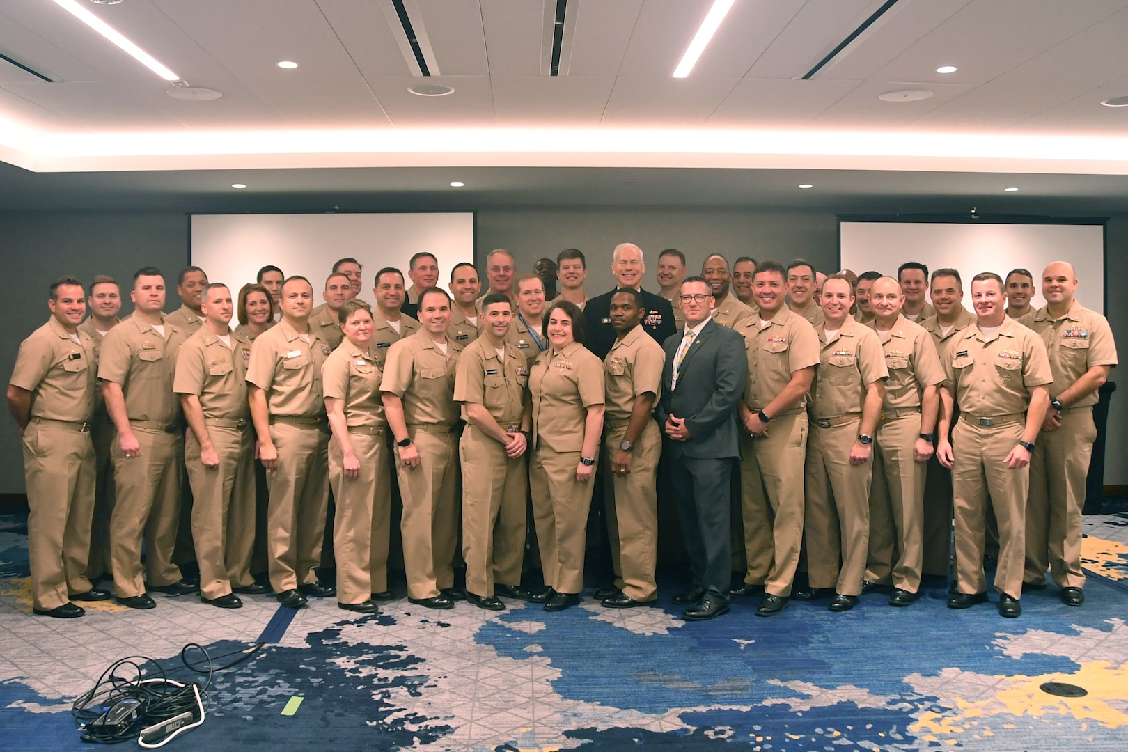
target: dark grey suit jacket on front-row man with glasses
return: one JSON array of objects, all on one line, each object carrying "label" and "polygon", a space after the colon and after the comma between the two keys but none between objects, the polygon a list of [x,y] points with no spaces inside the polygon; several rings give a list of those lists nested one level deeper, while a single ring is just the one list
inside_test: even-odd
[{"label": "dark grey suit jacket on front-row man with glasses", "polygon": [[[662,368],[662,398],[654,417],[664,426],[670,415],[686,418],[689,441],[666,439],[662,452],[671,458],[724,459],[739,457],[737,402],[748,381],[744,338],[712,319],[689,346],[673,388],[673,362],[682,335],[669,337]],[[664,437],[664,433],[663,433]]]}]

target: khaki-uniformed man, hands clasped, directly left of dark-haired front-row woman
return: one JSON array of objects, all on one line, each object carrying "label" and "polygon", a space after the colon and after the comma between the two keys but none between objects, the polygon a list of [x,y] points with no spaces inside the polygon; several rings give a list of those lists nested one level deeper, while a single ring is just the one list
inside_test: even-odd
[{"label": "khaki-uniformed man, hands clasped, directly left of dark-haired front-row woman", "polygon": [[455,401],[461,402],[466,430],[459,441],[462,468],[462,558],[466,598],[501,611],[495,593],[525,598],[525,497],[529,474],[532,412],[529,366],[506,342],[513,320],[508,295],[492,293],[482,301],[482,336],[458,359]]}]

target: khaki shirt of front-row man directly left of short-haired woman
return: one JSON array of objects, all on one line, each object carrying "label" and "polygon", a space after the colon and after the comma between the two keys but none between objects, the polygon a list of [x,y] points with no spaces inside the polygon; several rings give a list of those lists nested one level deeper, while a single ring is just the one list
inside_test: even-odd
[{"label": "khaki shirt of front-row man directly left of short-haired woman", "polygon": [[325,417],[321,366],[331,352],[314,327],[307,343],[282,319],[250,346],[247,383],[266,392],[272,417]]}]

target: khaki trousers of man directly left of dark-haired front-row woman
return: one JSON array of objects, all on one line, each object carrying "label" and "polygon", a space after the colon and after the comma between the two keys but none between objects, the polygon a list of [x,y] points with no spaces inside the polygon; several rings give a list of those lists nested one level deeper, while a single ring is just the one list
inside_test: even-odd
[{"label": "khaki trousers of man directly left of dark-haired front-row woman", "polygon": [[462,468],[462,558],[466,590],[483,598],[494,583],[521,584],[525,560],[526,455],[510,459],[485,432],[467,426],[458,444]]}]

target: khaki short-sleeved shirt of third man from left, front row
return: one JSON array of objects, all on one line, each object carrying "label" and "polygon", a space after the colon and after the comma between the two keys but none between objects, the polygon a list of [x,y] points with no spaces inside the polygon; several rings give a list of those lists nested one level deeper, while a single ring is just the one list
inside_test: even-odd
[{"label": "khaki short-sleeved shirt of third man from left, front row", "polygon": [[173,391],[195,395],[205,418],[238,421],[250,417],[247,364],[250,340],[231,334],[231,347],[205,326],[184,340],[176,354]]}]

